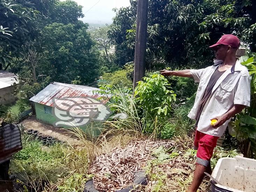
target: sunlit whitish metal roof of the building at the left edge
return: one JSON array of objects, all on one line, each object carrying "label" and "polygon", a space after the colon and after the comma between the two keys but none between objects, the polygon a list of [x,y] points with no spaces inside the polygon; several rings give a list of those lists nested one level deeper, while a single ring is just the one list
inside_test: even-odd
[{"label": "sunlit whitish metal roof of the building at the left edge", "polygon": [[19,83],[18,77],[9,71],[0,70],[0,89]]}]

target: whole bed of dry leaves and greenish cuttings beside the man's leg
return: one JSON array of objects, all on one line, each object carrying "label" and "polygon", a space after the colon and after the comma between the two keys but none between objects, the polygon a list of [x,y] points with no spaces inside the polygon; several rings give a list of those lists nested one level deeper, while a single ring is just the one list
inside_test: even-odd
[{"label": "whole bed of dry leaves and greenish cuttings beside the man's leg", "polygon": [[[175,146],[179,154],[177,157],[151,165],[150,170],[147,168],[149,184],[145,190],[186,190],[192,181],[195,159],[187,159],[183,154],[192,147],[192,143],[190,138],[186,141],[182,138],[175,141],[141,139],[130,141],[125,147],[115,147],[98,156],[92,163],[90,173],[95,175],[93,178],[95,187],[100,191],[115,191],[131,185],[134,172],[145,170],[148,161],[154,162],[157,159],[152,155],[153,149],[160,146],[169,149]],[[159,184],[161,182],[162,185]],[[205,184],[201,189],[206,189]]]}]

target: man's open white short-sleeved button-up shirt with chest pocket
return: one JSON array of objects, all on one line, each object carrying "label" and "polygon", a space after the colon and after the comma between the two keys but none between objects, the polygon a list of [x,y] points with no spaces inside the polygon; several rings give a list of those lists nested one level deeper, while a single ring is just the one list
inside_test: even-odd
[{"label": "man's open white short-sleeved button-up shirt with chest pocket", "polygon": [[[197,118],[199,103],[209,80],[222,61],[214,61],[214,63],[214,65],[205,69],[190,70],[195,83],[199,83],[194,106],[188,115],[191,119]],[[239,60],[237,60],[235,67],[226,70],[217,80],[211,96],[202,109],[197,130],[208,135],[221,137],[231,118],[218,128],[210,125],[211,119],[225,114],[235,104],[250,106],[250,75],[247,68],[241,65]]]}]

